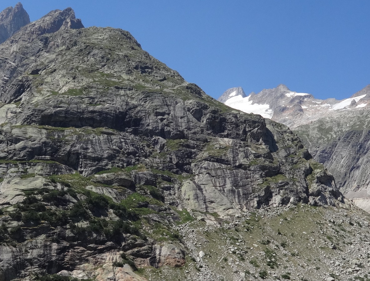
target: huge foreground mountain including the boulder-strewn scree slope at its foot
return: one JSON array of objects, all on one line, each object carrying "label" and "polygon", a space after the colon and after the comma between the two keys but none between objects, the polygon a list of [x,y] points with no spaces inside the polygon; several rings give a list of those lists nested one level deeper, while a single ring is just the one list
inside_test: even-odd
[{"label": "huge foreground mountain including the boulder-strewn scree slope at its foot", "polygon": [[368,277],[369,214],[285,125],[71,8],[0,52],[0,280]]}]

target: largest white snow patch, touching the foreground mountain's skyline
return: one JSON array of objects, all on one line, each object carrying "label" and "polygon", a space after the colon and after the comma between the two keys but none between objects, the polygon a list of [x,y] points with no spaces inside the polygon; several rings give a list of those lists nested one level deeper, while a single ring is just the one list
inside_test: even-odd
[{"label": "largest white snow patch, touching the foreground mountain's skyline", "polygon": [[272,117],[273,111],[269,109],[269,104],[252,104],[253,101],[249,101],[249,97],[250,96],[243,98],[240,95],[231,97],[225,102],[225,104],[229,107],[241,110],[245,113],[260,114],[262,117],[265,118]]}]

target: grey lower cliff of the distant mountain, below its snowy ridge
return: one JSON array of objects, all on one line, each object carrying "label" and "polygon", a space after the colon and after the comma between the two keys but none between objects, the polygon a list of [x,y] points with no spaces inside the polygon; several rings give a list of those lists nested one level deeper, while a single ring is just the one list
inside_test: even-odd
[{"label": "grey lower cliff of the distant mountain, below its snowy ridge", "polygon": [[366,211],[370,211],[369,120],[368,110],[346,111],[296,129],[314,159],[332,171],[342,193]]}]

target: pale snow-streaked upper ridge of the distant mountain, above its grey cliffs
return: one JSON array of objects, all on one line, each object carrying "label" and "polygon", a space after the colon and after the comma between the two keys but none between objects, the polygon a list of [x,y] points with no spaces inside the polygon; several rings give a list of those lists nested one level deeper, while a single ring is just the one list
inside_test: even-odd
[{"label": "pale snow-streaked upper ridge of the distant mountain, above its grey cliffs", "polygon": [[370,108],[370,85],[344,100],[320,100],[311,94],[291,91],[282,84],[273,89],[263,89],[258,94],[250,93],[248,96],[241,94],[240,90],[234,93],[232,89],[235,88],[225,91],[218,100],[246,113],[260,114],[283,123],[292,129],[321,117],[330,117],[334,112]]}]

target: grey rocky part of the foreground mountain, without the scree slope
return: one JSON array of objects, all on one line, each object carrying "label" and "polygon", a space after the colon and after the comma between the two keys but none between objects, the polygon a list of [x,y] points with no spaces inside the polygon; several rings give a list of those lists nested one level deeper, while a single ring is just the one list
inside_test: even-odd
[{"label": "grey rocky part of the foreground mountain, without the scree slope", "polygon": [[113,262],[183,265],[186,210],[343,202],[289,128],[213,100],[127,31],[82,27],[55,10],[0,46],[0,280],[143,280]]}]

